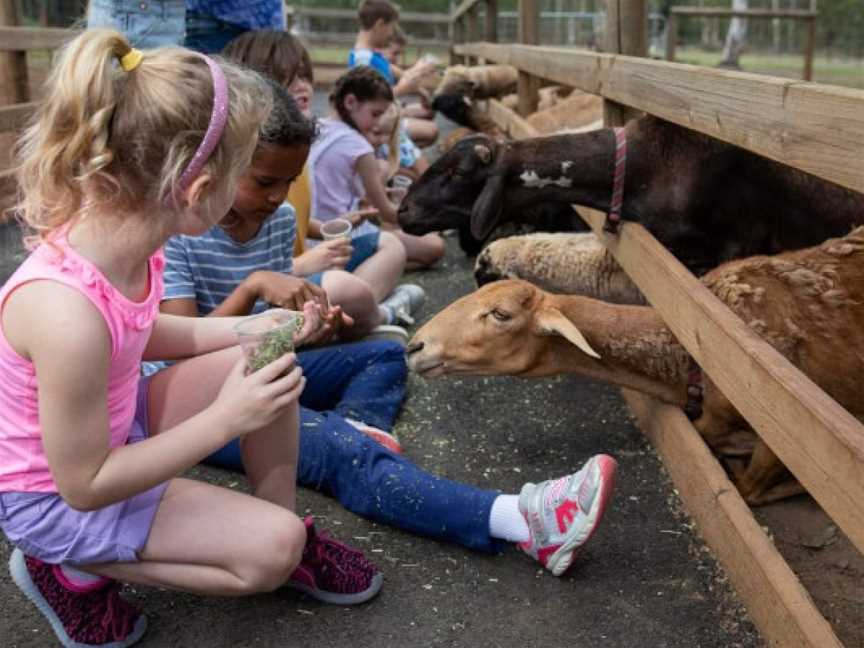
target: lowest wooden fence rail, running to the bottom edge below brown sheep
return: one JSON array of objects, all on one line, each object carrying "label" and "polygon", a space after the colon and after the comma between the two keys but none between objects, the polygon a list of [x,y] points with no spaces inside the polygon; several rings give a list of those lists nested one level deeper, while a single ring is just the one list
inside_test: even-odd
[{"label": "lowest wooden fence rail, running to the bottom edge below brown sheep", "polygon": [[683,412],[637,392],[622,392],[766,643],[841,648],[831,625]]}]

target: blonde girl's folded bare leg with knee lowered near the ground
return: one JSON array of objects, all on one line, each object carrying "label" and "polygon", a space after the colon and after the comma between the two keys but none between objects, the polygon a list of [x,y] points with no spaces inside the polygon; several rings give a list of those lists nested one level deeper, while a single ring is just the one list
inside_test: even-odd
[{"label": "blonde girl's folded bare leg with knee lowered near the ground", "polygon": [[306,529],[296,515],[257,497],[172,480],[139,562],[87,565],[110,578],[198,594],[272,591],[300,563]]}]

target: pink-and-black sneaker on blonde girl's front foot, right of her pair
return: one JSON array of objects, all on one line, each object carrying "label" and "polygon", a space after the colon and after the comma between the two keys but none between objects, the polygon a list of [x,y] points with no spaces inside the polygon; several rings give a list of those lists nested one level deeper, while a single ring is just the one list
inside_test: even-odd
[{"label": "pink-and-black sneaker on blonde girl's front foot, right of her pair", "polygon": [[362,552],[316,531],[311,517],[304,523],[306,547],[288,587],[335,605],[365,603],[378,593],[384,575]]}]

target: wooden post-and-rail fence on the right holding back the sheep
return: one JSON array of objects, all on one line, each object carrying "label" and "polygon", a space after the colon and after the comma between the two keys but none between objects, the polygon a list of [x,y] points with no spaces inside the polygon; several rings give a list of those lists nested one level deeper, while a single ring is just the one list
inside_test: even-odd
[{"label": "wooden post-and-rail fence on the right holding back the sheep", "polygon": [[[486,42],[477,42],[483,2],[465,0],[453,13],[452,56],[519,70],[518,113],[488,102],[489,116],[512,137],[536,135],[523,119],[536,96],[525,95],[536,95],[542,80],[604,97],[607,125],[644,111],[864,192],[864,91],[637,58],[646,50],[644,0],[607,0],[605,49],[615,53],[498,45],[488,27]],[[521,0],[523,42],[531,43],[536,10],[536,0]],[[605,214],[579,211],[703,370],[864,551],[864,426],[641,225],[610,235]],[[841,646],[683,412],[634,392],[625,398],[763,637],[778,646]]]}]

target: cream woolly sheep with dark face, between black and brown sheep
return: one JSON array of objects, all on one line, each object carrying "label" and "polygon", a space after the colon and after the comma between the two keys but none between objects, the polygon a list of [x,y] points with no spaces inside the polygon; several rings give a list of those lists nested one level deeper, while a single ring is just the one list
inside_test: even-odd
[{"label": "cream woolly sheep with dark face, between black and brown sheep", "polygon": [[591,232],[498,239],[477,256],[474,278],[480,286],[499,279],[524,279],[554,293],[616,304],[645,303],[627,273]]}]

